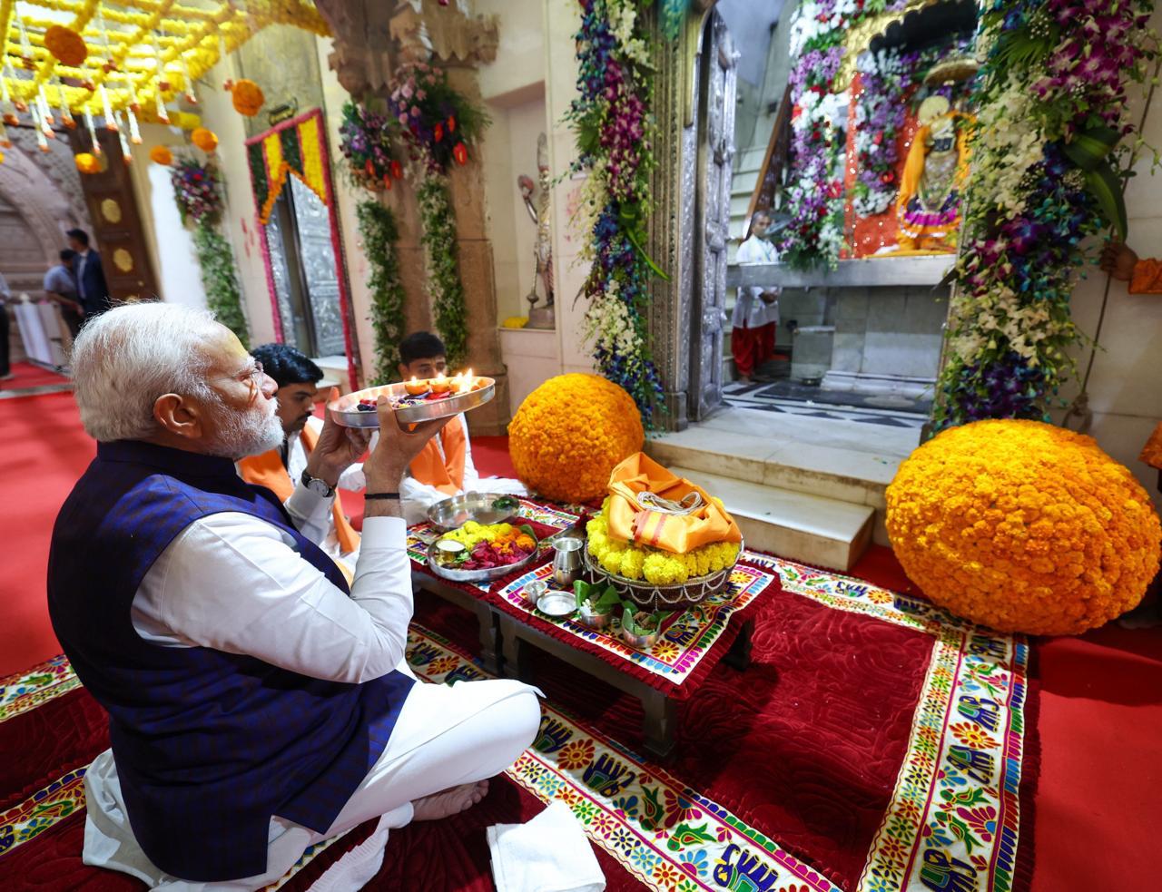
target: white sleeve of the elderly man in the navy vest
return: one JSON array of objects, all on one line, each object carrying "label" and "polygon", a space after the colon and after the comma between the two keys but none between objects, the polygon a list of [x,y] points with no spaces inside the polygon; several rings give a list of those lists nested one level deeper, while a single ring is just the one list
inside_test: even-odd
[{"label": "white sleeve of the elderly man in the navy vest", "polygon": [[400,518],[364,521],[349,597],[300,558],[289,534],[249,515],[191,524],[134,598],[146,640],[257,656],[315,678],[365,682],[403,659],[411,566]]}]

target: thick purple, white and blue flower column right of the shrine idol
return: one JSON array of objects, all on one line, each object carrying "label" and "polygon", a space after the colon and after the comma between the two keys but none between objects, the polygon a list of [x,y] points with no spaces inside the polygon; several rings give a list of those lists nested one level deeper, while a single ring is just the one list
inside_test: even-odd
[{"label": "thick purple, white and blue flower column right of the shrine idol", "polygon": [[938,429],[1045,418],[1082,340],[1069,300],[1102,226],[1125,237],[1126,86],[1156,58],[1152,3],[992,2],[975,103],[966,244],[955,268]]}]

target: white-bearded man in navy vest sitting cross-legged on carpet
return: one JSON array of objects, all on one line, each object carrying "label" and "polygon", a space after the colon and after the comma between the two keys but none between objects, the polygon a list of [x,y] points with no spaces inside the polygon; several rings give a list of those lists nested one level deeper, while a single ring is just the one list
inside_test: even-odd
[{"label": "white-bearded man in navy vest sitting cross-legged on carpet", "polygon": [[[85,862],[160,889],[259,889],[375,817],[454,814],[539,722],[512,681],[418,684],[399,489],[439,423],[381,401],[350,590],[317,546],[331,498],[286,504],[235,473],[277,446],[274,382],[209,314],[162,303],[89,322],[76,397],[98,455],[57,518],[53,628],[109,713],[86,775]],[[333,487],[366,439],[328,420],[308,476]]]}]

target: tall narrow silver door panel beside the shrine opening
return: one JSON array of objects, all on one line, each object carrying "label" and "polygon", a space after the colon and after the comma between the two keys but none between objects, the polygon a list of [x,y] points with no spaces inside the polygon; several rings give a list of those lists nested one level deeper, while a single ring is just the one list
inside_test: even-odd
[{"label": "tall narrow silver door panel beside the shrine opening", "polygon": [[689,410],[695,420],[723,403],[723,324],[726,318],[726,240],[731,159],[734,156],[737,58],[726,23],[717,10],[711,10],[702,30],[697,63],[697,200],[689,346]]}]

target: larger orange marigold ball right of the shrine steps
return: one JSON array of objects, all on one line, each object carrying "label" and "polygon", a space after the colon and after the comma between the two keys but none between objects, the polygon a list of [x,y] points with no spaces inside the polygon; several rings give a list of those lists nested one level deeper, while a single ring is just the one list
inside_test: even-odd
[{"label": "larger orange marigold ball right of the shrine steps", "polygon": [[888,487],[888,535],[938,605],[1002,632],[1078,634],[1134,607],[1162,525],[1090,437],[1040,422],[945,431]]}]

